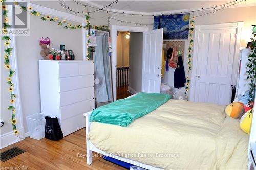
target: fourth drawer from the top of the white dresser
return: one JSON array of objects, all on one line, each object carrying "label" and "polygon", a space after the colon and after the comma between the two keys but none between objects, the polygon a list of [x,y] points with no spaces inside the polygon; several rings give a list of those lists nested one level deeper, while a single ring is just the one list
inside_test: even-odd
[{"label": "fourth drawer from the top of the white dresser", "polygon": [[85,101],[77,102],[71,105],[60,107],[61,120],[73,117],[80,113],[85,113],[93,110],[94,99],[88,99]]}]

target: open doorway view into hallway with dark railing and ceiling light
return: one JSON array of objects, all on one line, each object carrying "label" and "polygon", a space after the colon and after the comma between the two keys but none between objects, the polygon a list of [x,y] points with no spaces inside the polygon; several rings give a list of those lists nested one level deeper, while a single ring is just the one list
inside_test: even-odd
[{"label": "open doorway view into hallway with dark railing and ceiling light", "polygon": [[143,33],[117,31],[117,100],[141,92]]}]

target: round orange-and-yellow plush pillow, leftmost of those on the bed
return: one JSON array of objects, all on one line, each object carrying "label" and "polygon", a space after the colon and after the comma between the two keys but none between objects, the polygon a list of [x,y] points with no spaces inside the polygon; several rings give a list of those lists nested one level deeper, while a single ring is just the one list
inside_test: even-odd
[{"label": "round orange-and-yellow plush pillow, leftmost of those on the bed", "polygon": [[245,112],[244,106],[240,102],[233,102],[230,105],[227,105],[225,109],[225,113],[229,117],[233,117],[233,118],[238,118],[238,117],[241,118],[244,112]]}]

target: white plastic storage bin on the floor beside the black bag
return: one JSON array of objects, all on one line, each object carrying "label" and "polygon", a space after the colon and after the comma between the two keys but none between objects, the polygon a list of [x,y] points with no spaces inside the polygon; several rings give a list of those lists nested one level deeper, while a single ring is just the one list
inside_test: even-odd
[{"label": "white plastic storage bin on the floor beside the black bag", "polygon": [[29,137],[40,140],[45,137],[46,114],[36,113],[26,117]]}]

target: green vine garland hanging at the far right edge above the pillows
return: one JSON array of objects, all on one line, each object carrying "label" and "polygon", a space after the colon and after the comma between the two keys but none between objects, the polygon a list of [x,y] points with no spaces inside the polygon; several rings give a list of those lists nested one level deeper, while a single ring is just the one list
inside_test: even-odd
[{"label": "green vine garland hanging at the far right edge above the pillows", "polygon": [[[256,84],[256,25],[252,25],[253,27],[253,38],[251,38],[252,42],[250,45],[251,48],[251,54],[248,56],[248,64],[246,66],[246,73],[247,77],[246,80],[249,80],[250,83],[250,91],[249,91],[249,99],[248,102],[252,105],[253,108],[253,100],[255,95],[255,84]],[[251,112],[253,113],[253,109],[251,109]]]}]

